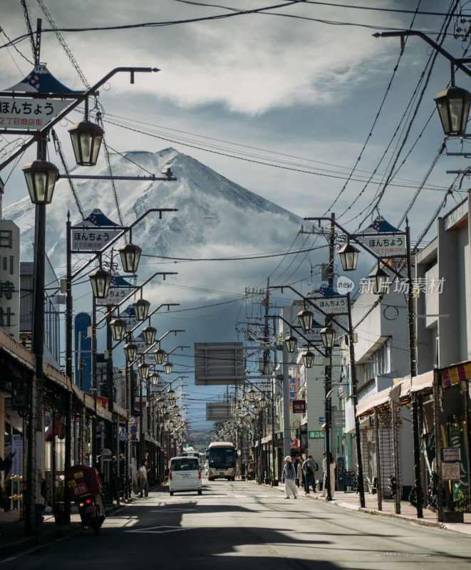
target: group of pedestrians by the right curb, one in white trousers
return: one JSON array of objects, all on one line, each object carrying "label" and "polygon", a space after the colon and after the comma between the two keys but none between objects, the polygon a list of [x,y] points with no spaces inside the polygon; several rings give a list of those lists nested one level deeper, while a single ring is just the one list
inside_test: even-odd
[{"label": "group of pedestrians by the right curb, one in white trousers", "polygon": [[[298,492],[296,487],[300,487],[301,484],[304,484],[305,494],[310,494],[311,487],[312,492],[316,492],[316,471],[319,470],[319,465],[314,461],[312,455],[309,455],[304,461],[301,455],[297,455],[297,457],[286,455],[284,462],[281,481],[284,482],[285,499],[289,499],[291,495],[294,499],[297,499]],[[326,497],[327,494],[327,470],[330,477],[331,497],[333,497],[335,489],[335,468],[336,463],[332,454],[330,454],[329,461],[327,461],[326,452],[324,452],[324,459],[322,461],[322,470],[324,472],[323,497]]]}]

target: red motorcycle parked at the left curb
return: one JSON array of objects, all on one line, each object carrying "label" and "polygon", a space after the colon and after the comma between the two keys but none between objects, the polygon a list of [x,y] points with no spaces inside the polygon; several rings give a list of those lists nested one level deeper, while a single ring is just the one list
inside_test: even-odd
[{"label": "red motorcycle parked at the left curb", "polygon": [[98,472],[87,465],[74,465],[66,473],[71,500],[76,502],[83,529],[93,529],[93,534],[100,534],[105,520],[105,509],[101,499],[101,484]]}]

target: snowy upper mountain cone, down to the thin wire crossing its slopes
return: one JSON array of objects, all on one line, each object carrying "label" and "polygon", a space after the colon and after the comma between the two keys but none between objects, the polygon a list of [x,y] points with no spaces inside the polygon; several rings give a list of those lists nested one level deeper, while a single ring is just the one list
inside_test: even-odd
[{"label": "snowy upper mountain cone, down to the thin wire crossing its slopes", "polygon": [[[113,175],[162,176],[171,168],[177,181],[116,181],[124,224],[150,208],[177,208],[178,212],[149,214],[133,230],[133,242],[144,254],[163,257],[234,257],[286,249],[302,223],[301,218],[245,190],[188,155],[167,148],[160,152],[111,155]],[[94,168],[77,167],[73,174],[108,175],[104,160]],[[86,216],[95,208],[119,223],[111,182],[74,180]],[[46,253],[58,275],[65,266],[66,217],[81,222],[67,180],[56,185],[46,209]],[[21,229],[21,259],[33,259],[34,207],[24,198],[4,209],[4,218]],[[152,258],[150,258],[152,259]],[[155,258],[155,261],[161,261]],[[144,266],[143,266],[144,267]],[[141,269],[142,272],[142,269]],[[145,271],[147,272],[147,271]],[[150,271],[149,271],[150,272]]]}]

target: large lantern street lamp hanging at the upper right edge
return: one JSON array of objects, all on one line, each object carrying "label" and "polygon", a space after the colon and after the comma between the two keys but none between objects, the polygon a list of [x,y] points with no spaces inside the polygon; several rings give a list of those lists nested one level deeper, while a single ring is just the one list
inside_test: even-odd
[{"label": "large lantern street lamp hanging at the upper right edge", "polygon": [[451,86],[440,91],[434,101],[445,135],[447,137],[465,135],[467,118],[470,114],[471,93],[460,87]]}]

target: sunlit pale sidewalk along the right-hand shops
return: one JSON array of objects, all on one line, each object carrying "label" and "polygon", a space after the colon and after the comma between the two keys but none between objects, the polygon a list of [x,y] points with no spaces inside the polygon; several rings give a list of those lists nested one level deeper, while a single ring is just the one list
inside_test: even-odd
[{"label": "sunlit pale sidewalk along the right-hand shops", "polygon": [[[257,484],[255,481],[249,481]],[[269,487],[269,485],[265,485]],[[284,493],[284,484],[279,483],[277,487],[273,489]],[[408,501],[400,502],[400,514],[395,514],[395,501],[392,499],[383,499],[382,510],[378,510],[378,495],[377,494],[365,494],[365,508],[360,507],[360,498],[357,493],[345,493],[338,492],[333,496],[332,501],[326,501],[325,497],[321,497],[321,492],[309,494],[304,494],[303,487],[296,487],[298,491],[299,499],[306,500],[317,500],[323,501],[328,504],[335,505],[336,507],[343,507],[344,509],[353,509],[356,511],[364,512],[367,514],[378,514],[382,517],[395,517],[398,519],[407,520],[410,522],[415,522],[417,524],[423,524],[430,527],[440,527],[442,529],[449,529],[455,532],[460,532],[462,534],[471,535],[471,513],[465,513],[465,522],[438,522],[437,514],[435,512],[429,511],[428,509],[423,509],[423,519],[417,518],[417,510]],[[292,499],[291,499],[292,500]]]}]

